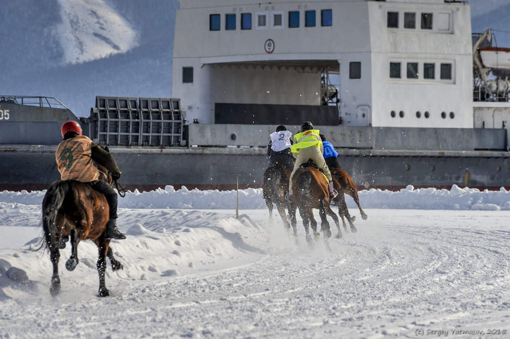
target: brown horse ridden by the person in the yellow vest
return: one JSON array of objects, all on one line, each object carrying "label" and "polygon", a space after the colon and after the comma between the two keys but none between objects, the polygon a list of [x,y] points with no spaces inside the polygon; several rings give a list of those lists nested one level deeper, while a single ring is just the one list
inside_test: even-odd
[{"label": "brown horse ridden by the person in the yellow vest", "polygon": [[292,191],[296,207],[299,208],[299,215],[303,219],[307,241],[312,243],[312,237],[309,232],[310,224],[312,225],[315,239],[319,237],[317,222],[313,214],[314,208],[319,210],[323,237],[330,238],[331,230],[329,229],[326,215],[331,216],[334,220],[336,219],[336,222],[338,222],[338,217],[329,208],[329,190],[324,174],[314,166],[301,165],[301,168],[297,169],[292,177]]}]

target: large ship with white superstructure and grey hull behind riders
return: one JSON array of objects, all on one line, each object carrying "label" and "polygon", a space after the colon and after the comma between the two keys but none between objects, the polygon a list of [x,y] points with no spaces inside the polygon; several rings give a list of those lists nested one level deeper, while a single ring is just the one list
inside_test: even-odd
[{"label": "large ship with white superstructure and grey hull behind riders", "polygon": [[468,1],[179,3],[173,98],[98,95],[76,117],[0,95],[0,189],[59,179],[66,120],[130,190],[261,187],[269,134],[303,121],[359,189],[510,188],[510,49],[471,32]]}]

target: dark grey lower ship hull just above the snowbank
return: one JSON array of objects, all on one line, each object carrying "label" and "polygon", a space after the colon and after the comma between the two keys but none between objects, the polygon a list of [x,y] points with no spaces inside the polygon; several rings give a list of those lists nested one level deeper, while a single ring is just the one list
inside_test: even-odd
[{"label": "dark grey lower ship hull just above the snowbank", "polygon": [[[10,146],[0,150],[0,190],[44,190],[59,180],[56,146]],[[263,148],[111,148],[131,191],[260,188],[268,166]],[[339,163],[359,189],[510,187],[510,156],[497,151],[339,150]]]}]

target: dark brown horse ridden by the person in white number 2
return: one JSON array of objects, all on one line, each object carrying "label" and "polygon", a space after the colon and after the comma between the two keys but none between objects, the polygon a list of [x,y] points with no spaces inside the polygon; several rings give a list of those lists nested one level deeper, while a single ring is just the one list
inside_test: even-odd
[{"label": "dark brown horse ridden by the person in white number 2", "polygon": [[[296,207],[293,203],[285,200],[285,193],[289,189],[289,178],[291,170],[282,164],[270,165],[264,171],[264,185],[262,187],[262,196],[266,200],[266,205],[269,210],[269,219],[272,220],[273,203],[282,220],[284,221],[285,228],[290,231],[290,227],[294,231],[294,236],[297,236],[296,229]],[[285,210],[289,211],[290,223],[287,219]]]}]

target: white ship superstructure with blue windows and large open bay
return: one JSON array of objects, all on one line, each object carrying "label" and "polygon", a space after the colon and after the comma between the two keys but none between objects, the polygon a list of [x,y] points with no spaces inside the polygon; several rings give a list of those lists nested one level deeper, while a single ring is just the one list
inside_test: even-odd
[{"label": "white ship superstructure with blue windows and large open bay", "polygon": [[[331,114],[338,99],[335,121],[322,124],[473,128],[466,2],[181,0],[180,5],[172,90],[188,122],[236,123],[221,119],[230,113],[246,121],[262,116],[259,124],[291,119],[292,112],[280,105],[313,107],[305,116],[314,121]],[[328,105],[321,84],[339,90]]]}]

